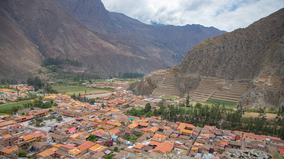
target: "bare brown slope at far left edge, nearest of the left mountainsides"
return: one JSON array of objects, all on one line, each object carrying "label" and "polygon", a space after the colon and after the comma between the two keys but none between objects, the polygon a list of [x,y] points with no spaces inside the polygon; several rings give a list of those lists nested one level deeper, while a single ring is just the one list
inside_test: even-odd
[{"label": "bare brown slope at far left edge, nearest of the left mountainsides", "polygon": [[19,75],[40,67],[41,54],[0,4],[0,77]]}]

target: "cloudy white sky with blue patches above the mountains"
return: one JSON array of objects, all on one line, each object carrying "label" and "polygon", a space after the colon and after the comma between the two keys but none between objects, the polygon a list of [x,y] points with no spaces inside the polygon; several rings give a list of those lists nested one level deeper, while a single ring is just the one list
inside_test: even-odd
[{"label": "cloudy white sky with blue patches above the mountains", "polygon": [[109,11],[146,24],[201,24],[231,32],[284,7],[284,0],[102,0]]}]

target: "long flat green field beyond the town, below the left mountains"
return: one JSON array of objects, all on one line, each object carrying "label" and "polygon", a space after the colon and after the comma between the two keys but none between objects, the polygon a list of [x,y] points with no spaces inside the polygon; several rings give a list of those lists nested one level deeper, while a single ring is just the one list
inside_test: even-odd
[{"label": "long flat green field beyond the town, below the left mountains", "polygon": [[86,93],[99,93],[99,92],[112,92],[111,90],[104,90],[104,89],[97,89],[97,88],[89,88],[86,86],[76,86],[76,85],[71,85],[71,86],[52,86],[52,89],[57,90],[60,93],[66,93],[67,95],[75,95],[80,94],[85,94],[85,90],[87,91]]}]

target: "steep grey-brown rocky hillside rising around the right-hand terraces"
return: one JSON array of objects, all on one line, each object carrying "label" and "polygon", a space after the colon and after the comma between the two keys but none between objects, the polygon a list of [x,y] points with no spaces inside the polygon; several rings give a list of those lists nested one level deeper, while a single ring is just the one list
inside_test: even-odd
[{"label": "steep grey-brown rocky hillside rising around the right-hand terraces", "polygon": [[264,92],[261,85],[253,82],[260,75],[280,77],[283,84],[284,9],[247,28],[209,38],[195,45],[185,55],[176,72],[176,86],[180,92],[187,94],[197,88],[202,76],[217,77],[224,81],[249,84],[240,100],[246,105],[267,107],[283,103],[283,85],[280,85],[281,88],[268,85],[266,89],[269,91]]}]

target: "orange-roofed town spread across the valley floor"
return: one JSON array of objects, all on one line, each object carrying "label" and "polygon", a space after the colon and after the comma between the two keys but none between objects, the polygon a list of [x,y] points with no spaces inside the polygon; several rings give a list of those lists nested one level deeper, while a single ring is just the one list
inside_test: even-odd
[{"label": "orange-roofed town spread across the valley floor", "polygon": [[[45,89],[34,91],[35,86],[27,84],[1,88],[1,108],[24,103],[23,107],[1,110],[0,154],[6,158],[121,159],[167,154],[272,158],[284,153],[284,141],[277,137],[278,132],[273,136],[256,135],[214,125],[199,127],[186,120],[170,122],[153,113],[163,105],[178,107],[188,105],[182,103],[188,101],[136,96],[127,90],[128,82],[86,84],[88,88],[108,85],[113,92],[48,94]],[[135,111],[140,113],[133,114]]]}]

